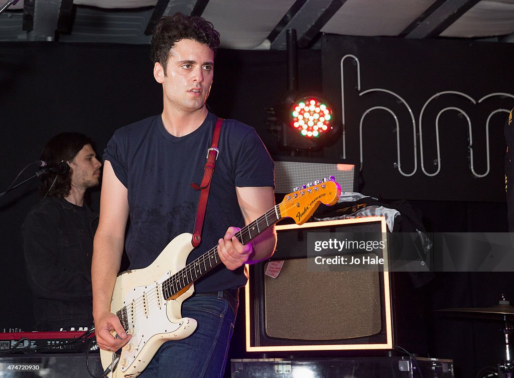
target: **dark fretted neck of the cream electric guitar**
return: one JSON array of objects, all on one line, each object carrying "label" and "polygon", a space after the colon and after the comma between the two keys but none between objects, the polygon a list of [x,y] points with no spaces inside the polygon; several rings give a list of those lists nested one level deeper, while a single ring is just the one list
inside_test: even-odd
[{"label": "dark fretted neck of the cream electric guitar", "polygon": [[[281,219],[279,205],[275,205],[265,214],[261,215],[261,217],[237,231],[235,237],[241,243],[247,244]],[[198,278],[209,272],[219,263],[221,263],[221,259],[219,258],[218,248],[216,245],[164,281],[162,283],[162,292],[164,296],[166,298],[171,298],[173,295],[185,289]]]}]

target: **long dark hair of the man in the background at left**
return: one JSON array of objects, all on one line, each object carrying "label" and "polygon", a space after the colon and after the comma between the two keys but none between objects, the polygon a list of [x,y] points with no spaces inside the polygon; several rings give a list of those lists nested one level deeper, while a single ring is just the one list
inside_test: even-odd
[{"label": "long dark hair of the man in the background at left", "polygon": [[[79,133],[61,133],[51,138],[45,145],[41,160],[44,161],[71,161],[85,145],[93,146],[93,141]],[[40,190],[45,196],[64,198],[71,189],[71,172],[57,174],[46,172],[40,176]]]}]

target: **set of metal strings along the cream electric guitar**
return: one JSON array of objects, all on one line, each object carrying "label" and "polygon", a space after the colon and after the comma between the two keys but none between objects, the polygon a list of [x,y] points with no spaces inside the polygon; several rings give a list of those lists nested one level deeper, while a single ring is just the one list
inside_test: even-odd
[{"label": "set of metal strings along the cream electric guitar", "polygon": [[[286,212],[292,208],[294,208],[296,205],[294,204],[296,199],[290,199],[290,200],[287,200],[286,202],[287,203],[280,203],[278,205],[274,205],[271,209],[269,209],[268,211],[266,211],[263,215],[261,215],[261,217],[255,219],[254,221],[252,221],[251,223],[249,223],[248,225],[246,225],[245,227],[243,227],[241,230],[237,231],[235,233],[235,237],[237,237],[238,239],[240,239],[241,237],[243,237],[243,233],[244,232],[247,232],[248,233],[248,236],[250,238],[250,240],[252,239],[251,237],[251,233],[250,233],[250,228],[254,227],[254,226],[257,226],[258,227],[258,233],[257,235],[260,234],[260,229],[259,229],[259,223],[258,221],[259,220],[263,220],[265,219],[266,222],[267,222],[267,219],[268,219],[268,215],[274,215],[274,218],[276,219],[277,217],[277,213],[281,213],[280,211],[280,206],[282,206],[282,210],[285,210]],[[290,203],[290,202],[293,202],[293,203]],[[298,207],[298,206],[297,206]],[[282,215],[282,214],[281,214]],[[283,217],[273,221],[271,224],[268,224],[265,228],[273,225],[274,223],[277,223],[280,219],[282,219]],[[264,229],[265,229],[264,228]],[[263,230],[264,230],[263,229]],[[241,240],[241,239],[240,239]],[[249,240],[249,241],[250,241]],[[217,259],[219,258],[219,255],[217,254],[217,246],[216,247],[213,247],[212,249],[210,249],[207,253],[204,253],[203,255],[201,255],[199,258],[193,260],[191,263],[187,264],[185,267],[183,267],[182,269],[180,269],[180,271],[178,271],[177,273],[175,273],[173,276],[171,276],[170,278],[167,278],[166,280],[164,280],[163,282],[159,283],[159,285],[161,286],[162,290],[160,291],[161,292],[161,303],[164,303],[165,300],[167,299],[164,299],[164,295],[163,295],[163,291],[164,289],[172,289],[173,293],[171,293],[172,295],[173,294],[176,294],[176,292],[182,290],[182,289],[185,289],[185,287],[187,285],[189,285],[190,283],[193,283],[195,279],[192,279],[192,270],[193,270],[193,266],[195,266],[195,263],[196,265],[200,264],[201,262],[204,263],[204,266],[206,266],[206,261],[210,260],[211,258],[211,255],[214,254],[214,258],[215,258],[215,265],[211,265],[210,262],[209,262],[209,265],[211,265],[209,268],[207,268],[207,270],[204,272],[206,273],[207,271],[210,270],[210,268],[213,268],[214,266],[216,266],[217,264],[219,264],[220,261],[217,261]],[[183,272],[182,272],[183,271]],[[180,275],[179,275],[180,273]],[[189,281],[189,279],[187,278],[187,273],[190,274],[190,277],[191,277],[191,281]],[[202,273],[202,274],[204,274]],[[186,276],[186,279],[188,280],[188,283],[186,285],[183,285],[183,283],[180,283],[180,279],[182,276]],[[195,273],[196,275],[196,273]],[[196,277],[198,278],[198,277]],[[182,279],[182,282],[183,282],[183,279]],[[172,283],[176,284],[176,287],[178,287],[179,290],[175,290],[175,288],[172,286]],[[165,286],[166,285],[166,286]],[[146,305],[148,307],[148,311],[150,312],[150,309],[151,308],[154,308],[156,307],[156,302],[158,301],[158,296],[156,294],[156,291],[158,289],[156,287],[154,287],[153,289],[151,289],[150,291],[146,292],[145,291],[145,295],[146,297],[148,298],[147,301],[146,301]],[[134,304],[134,311],[139,311],[141,310],[141,307],[144,307],[144,298],[143,296],[140,296],[138,298],[136,298],[135,300],[133,300],[132,302],[130,303],[127,303],[125,304],[121,309],[120,311],[123,310],[123,308],[126,308],[128,305],[130,304]],[[127,315],[127,317],[130,316],[130,315]],[[137,317],[137,315],[136,315]]]}]

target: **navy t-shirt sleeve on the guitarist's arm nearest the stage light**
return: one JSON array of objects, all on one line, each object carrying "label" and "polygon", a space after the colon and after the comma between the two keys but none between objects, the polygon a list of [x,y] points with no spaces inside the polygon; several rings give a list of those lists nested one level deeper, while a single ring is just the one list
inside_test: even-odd
[{"label": "navy t-shirt sleeve on the guitarist's arm nearest the stage light", "polygon": [[273,160],[255,130],[242,139],[235,161],[235,186],[275,187]]}]

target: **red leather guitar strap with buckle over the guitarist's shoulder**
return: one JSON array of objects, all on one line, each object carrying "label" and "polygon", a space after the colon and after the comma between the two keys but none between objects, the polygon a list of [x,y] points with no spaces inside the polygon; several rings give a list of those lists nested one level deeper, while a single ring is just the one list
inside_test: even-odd
[{"label": "red leather guitar strap with buckle over the guitarist's shoulder", "polygon": [[218,140],[219,133],[222,130],[223,119],[218,118],[216,125],[214,126],[214,132],[212,134],[212,144],[207,150],[207,163],[205,164],[204,178],[201,181],[201,185],[191,183],[191,187],[194,190],[201,190],[200,199],[198,200],[198,209],[196,210],[196,219],[194,221],[193,238],[191,244],[196,248],[201,241],[201,228],[204,225],[205,208],[207,207],[207,198],[209,197],[209,189],[211,188],[211,178],[214,173],[214,166],[216,165],[216,159],[218,158]]}]

